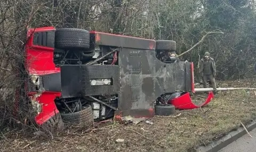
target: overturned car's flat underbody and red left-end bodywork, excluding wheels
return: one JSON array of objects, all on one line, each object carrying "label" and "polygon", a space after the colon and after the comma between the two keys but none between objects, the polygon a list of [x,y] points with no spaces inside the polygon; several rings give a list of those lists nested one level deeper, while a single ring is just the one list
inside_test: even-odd
[{"label": "overturned car's flat underbody and red left-end bodywork, excluding wheels", "polygon": [[[152,39],[91,31],[90,50],[101,48],[102,58],[116,55],[115,65],[55,64],[54,52],[59,51],[54,48],[55,30],[43,27],[27,33],[26,90],[30,100],[41,106],[35,117],[39,125],[60,113],[56,100],[86,97],[113,111],[111,117],[154,117],[156,99],[162,94],[194,91],[193,62],[158,60]],[[95,79],[107,79],[109,84],[92,85]],[[117,97],[113,104],[97,98],[112,94]]]}]

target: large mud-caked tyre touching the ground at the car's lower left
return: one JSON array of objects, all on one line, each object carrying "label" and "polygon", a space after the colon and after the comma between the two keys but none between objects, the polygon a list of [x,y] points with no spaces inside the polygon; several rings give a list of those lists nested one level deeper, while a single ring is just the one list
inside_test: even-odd
[{"label": "large mud-caked tyre touching the ground at the car's lower left", "polygon": [[64,123],[67,124],[82,124],[83,126],[90,126],[93,124],[93,111],[90,105],[83,107],[81,111],[69,114],[61,114]]}]

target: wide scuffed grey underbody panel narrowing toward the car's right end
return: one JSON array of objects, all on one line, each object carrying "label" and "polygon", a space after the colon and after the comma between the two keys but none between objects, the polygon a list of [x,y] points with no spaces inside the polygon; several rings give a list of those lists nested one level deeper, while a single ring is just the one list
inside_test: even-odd
[{"label": "wide scuffed grey underbody panel narrowing toward the car's right end", "polygon": [[121,93],[117,114],[154,116],[154,102],[161,94],[191,89],[189,62],[163,63],[155,51],[129,48],[122,48],[118,59]]}]

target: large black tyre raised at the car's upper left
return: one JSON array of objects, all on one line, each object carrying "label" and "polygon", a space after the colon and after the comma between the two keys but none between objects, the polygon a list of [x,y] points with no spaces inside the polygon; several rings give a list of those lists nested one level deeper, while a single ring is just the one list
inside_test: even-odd
[{"label": "large black tyre raised at the car's upper left", "polygon": [[54,45],[56,49],[89,49],[90,33],[76,28],[56,29]]}]

